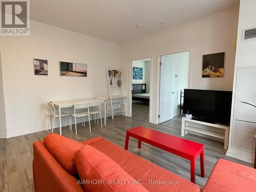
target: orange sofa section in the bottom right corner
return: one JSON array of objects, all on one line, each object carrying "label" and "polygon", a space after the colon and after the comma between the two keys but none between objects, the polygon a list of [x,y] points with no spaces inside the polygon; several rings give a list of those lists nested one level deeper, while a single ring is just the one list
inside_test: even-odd
[{"label": "orange sofa section in the bottom right corner", "polygon": [[203,192],[256,191],[256,169],[219,159]]}]

